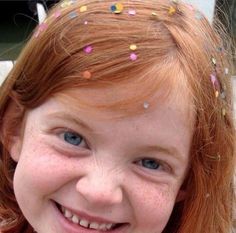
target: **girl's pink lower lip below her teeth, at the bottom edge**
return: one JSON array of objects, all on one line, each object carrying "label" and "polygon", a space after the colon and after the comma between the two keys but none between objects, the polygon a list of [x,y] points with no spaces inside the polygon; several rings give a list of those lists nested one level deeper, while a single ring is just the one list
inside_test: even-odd
[{"label": "girl's pink lower lip below her teeth, at the bottom edge", "polygon": [[70,220],[66,219],[65,216],[60,212],[57,208],[55,202],[54,207],[56,209],[56,218],[59,219],[59,226],[62,229],[62,232],[65,233],[128,233],[129,224],[124,224],[124,226],[119,227],[118,229],[114,230],[95,230],[95,229],[88,229],[85,227],[80,226],[79,224],[75,224]]}]

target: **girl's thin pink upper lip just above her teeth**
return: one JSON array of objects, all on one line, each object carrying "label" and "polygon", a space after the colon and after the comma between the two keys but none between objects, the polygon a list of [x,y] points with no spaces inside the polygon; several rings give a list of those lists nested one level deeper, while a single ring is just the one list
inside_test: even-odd
[{"label": "girl's thin pink upper lip just above her teeth", "polygon": [[118,224],[119,222],[114,222],[114,221],[111,221],[109,219],[106,219],[106,218],[102,218],[102,217],[97,217],[97,216],[92,216],[88,213],[85,213],[83,211],[79,211],[79,210],[75,210],[73,208],[70,208],[70,207],[67,207],[66,205],[61,205],[59,204],[60,206],[63,206],[65,207],[67,210],[70,210],[73,214],[76,214],[78,217],[82,218],[82,219],[86,219],[87,221],[89,222],[97,222],[98,224],[102,224],[102,223],[107,223],[107,224]]}]

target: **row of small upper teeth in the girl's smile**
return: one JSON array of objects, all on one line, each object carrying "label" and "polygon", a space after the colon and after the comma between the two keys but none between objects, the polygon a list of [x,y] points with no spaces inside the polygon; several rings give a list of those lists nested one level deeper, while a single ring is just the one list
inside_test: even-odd
[{"label": "row of small upper teeth in the girl's smile", "polygon": [[90,229],[107,231],[107,230],[110,230],[115,225],[112,223],[89,222],[86,219],[80,218],[78,215],[72,213],[70,210],[66,209],[65,207],[62,207],[62,212],[63,212],[64,216],[68,220],[70,220],[71,222],[73,222],[75,224],[79,224],[79,225],[86,227],[86,228],[90,228]]}]

